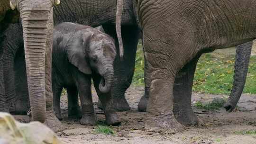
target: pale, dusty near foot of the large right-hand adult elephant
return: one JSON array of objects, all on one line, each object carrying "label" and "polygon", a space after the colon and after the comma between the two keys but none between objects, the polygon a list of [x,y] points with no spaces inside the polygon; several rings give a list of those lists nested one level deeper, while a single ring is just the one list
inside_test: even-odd
[{"label": "pale, dusty near foot of the large right-hand adult elephant", "polygon": [[176,120],[173,113],[150,116],[145,123],[146,131],[176,133],[183,126]]}]

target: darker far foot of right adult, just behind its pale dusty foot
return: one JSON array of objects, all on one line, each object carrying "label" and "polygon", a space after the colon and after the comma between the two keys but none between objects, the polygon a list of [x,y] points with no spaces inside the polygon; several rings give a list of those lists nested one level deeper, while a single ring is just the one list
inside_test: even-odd
[{"label": "darker far foot of right adult, just behind its pale dusty foot", "polygon": [[184,126],[198,125],[199,123],[198,117],[194,114],[191,108],[179,110],[174,109],[174,115],[176,119]]}]

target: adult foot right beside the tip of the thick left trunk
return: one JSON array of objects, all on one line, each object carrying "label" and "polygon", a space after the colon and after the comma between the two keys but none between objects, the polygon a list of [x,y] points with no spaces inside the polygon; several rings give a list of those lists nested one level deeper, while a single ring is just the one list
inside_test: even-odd
[{"label": "adult foot right beside the tip of the thick left trunk", "polygon": [[53,110],[46,111],[46,122],[44,124],[50,127],[54,132],[59,132],[63,129],[61,126],[61,122],[55,116]]}]

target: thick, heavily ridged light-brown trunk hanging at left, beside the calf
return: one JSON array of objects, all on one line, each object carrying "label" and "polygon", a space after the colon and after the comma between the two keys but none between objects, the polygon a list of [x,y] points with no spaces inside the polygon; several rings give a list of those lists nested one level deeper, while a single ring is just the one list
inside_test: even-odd
[{"label": "thick, heavily ridged light-brown trunk hanging at left, beside the calf", "polygon": [[32,119],[42,123],[46,120],[45,61],[50,14],[44,9],[20,10]]}]

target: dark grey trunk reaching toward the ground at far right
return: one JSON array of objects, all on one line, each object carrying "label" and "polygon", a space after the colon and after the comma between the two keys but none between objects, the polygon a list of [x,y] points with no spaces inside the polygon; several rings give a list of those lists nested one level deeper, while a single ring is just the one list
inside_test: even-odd
[{"label": "dark grey trunk reaching toward the ground at far right", "polygon": [[248,42],[237,46],[233,87],[229,99],[224,104],[227,111],[236,107],[244,90],[252,45],[253,42]]}]

